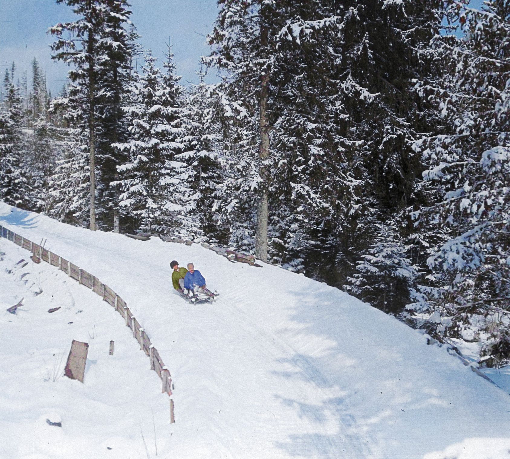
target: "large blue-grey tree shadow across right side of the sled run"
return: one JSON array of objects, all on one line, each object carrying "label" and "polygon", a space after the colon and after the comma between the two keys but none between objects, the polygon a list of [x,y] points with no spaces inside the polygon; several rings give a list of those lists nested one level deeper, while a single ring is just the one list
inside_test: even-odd
[{"label": "large blue-grey tree shadow across right side of the sled run", "polygon": [[[462,363],[396,318],[324,284],[310,287],[284,293],[295,299],[290,324],[275,330],[295,354],[274,360],[273,374],[304,388],[274,395],[303,420],[275,443],[288,456],[407,459],[464,438],[507,436],[504,422],[496,431],[461,402],[488,388]],[[501,416],[491,410],[489,419]]]}]

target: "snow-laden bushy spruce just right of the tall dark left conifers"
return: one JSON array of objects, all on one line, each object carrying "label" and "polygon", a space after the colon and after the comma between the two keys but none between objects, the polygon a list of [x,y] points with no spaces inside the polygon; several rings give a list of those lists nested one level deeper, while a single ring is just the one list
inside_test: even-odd
[{"label": "snow-laden bushy spruce just right of the tall dark left conifers", "polygon": [[148,52],[137,104],[125,108],[132,118],[129,139],[114,145],[131,159],[118,167],[120,205],[138,220],[141,230],[178,234],[191,198],[186,186],[188,166],[175,158],[184,147],[179,140],[181,109],[174,99],[180,90],[168,86],[175,77],[166,75],[163,83],[155,64],[156,58]]}]

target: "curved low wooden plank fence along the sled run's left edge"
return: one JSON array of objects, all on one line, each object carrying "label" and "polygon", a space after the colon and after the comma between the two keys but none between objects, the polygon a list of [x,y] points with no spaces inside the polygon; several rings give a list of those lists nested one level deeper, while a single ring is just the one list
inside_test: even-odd
[{"label": "curved low wooden plank fence along the sled run's left edge", "polygon": [[[97,277],[89,272],[81,269],[80,267],[72,264],[69,260],[58,256],[56,253],[50,252],[39,244],[30,241],[29,239],[20,236],[6,227],[0,225],[0,236],[14,242],[20,247],[30,250],[34,256],[49,263],[52,266],[58,267],[61,271],[65,272],[69,277],[78,281],[80,284],[92,290],[110,304],[124,319],[126,326],[130,327],[133,331],[133,337],[140,344],[140,350],[144,351],[150,359],[150,369],[156,371],[162,381],[162,393],[167,393],[168,396],[172,395],[172,380],[168,368],[163,363],[158,350],[150,343],[150,339],[145,333],[145,330],[140,325],[135,316],[127,307],[126,302],[117,295],[110,287],[103,284]],[[170,399],[170,422],[175,422],[173,414],[173,400]]]}]

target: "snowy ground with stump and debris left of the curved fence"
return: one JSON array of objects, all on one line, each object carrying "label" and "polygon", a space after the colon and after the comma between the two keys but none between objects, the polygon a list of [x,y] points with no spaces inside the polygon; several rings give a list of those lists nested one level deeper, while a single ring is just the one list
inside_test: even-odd
[{"label": "snowy ground with stump and debris left of the curved fence", "polygon": [[[0,458],[146,458],[144,441],[155,457],[168,396],[121,317],[12,242],[0,239],[0,253]],[[73,339],[90,343],[85,384],[63,376]]]}]

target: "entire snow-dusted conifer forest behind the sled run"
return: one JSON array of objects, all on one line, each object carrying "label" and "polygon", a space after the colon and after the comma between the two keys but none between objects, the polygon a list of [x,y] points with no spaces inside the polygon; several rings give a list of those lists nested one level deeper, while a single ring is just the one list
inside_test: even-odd
[{"label": "entire snow-dusted conifer forest behind the sled run", "polygon": [[219,0],[196,84],[127,0],[56,3],[68,81],[3,75],[0,199],[249,252],[510,363],[510,0]]}]

